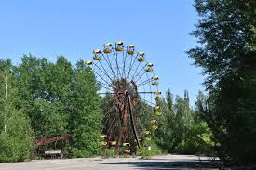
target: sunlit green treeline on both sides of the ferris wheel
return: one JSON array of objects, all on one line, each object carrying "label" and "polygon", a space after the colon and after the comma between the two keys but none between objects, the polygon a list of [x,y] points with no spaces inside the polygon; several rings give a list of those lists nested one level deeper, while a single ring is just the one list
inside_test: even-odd
[{"label": "sunlit green treeline on both sides of the ferris wheel", "polygon": [[[55,63],[32,55],[23,56],[18,66],[0,60],[0,161],[22,161],[34,157],[34,140],[69,134],[68,142],[41,147],[62,150],[64,156],[88,157],[101,154],[102,119],[106,98],[97,91],[94,74],[79,60],[75,66],[63,56]],[[205,122],[189,106],[188,92],[181,98],[168,90],[161,103],[159,130],[152,143],[166,152],[206,153],[212,145]],[[196,103],[206,97],[199,92]],[[146,105],[141,103],[141,105]],[[149,107],[149,106],[147,106]],[[135,108],[136,109],[136,108]],[[142,131],[150,119],[141,112],[136,124]],[[155,143],[155,144],[154,144]],[[158,147],[157,147],[158,146]]]}]

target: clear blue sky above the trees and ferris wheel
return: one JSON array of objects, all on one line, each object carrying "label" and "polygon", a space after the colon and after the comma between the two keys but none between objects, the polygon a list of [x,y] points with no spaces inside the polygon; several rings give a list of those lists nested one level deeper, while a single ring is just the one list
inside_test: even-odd
[{"label": "clear blue sky above the trees and ferris wheel", "polygon": [[122,40],[145,51],[161,78],[160,89],[175,95],[188,89],[194,103],[204,89],[201,70],[186,50],[196,45],[193,0],[10,0],[0,3],[0,59],[20,63],[32,53],[55,61],[64,55],[73,64],[91,59],[105,42]]}]

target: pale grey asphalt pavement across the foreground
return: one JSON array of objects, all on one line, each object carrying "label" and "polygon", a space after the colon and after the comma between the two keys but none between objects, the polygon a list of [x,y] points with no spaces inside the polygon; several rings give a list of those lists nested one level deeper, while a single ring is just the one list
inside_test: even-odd
[{"label": "pale grey asphalt pavement across the foreground", "polygon": [[137,158],[81,158],[42,160],[22,163],[0,163],[0,170],[164,170],[164,169],[217,169],[208,158],[193,155],[155,156],[147,160]]}]

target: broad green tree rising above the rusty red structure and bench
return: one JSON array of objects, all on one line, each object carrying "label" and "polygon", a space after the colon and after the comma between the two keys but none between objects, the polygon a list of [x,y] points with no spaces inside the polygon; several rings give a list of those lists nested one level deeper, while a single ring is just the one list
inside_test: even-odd
[{"label": "broad green tree rising above the rusty red structure and bench", "polygon": [[32,55],[24,56],[17,67],[20,105],[31,119],[37,138],[67,133],[68,94],[72,66],[60,57],[56,64]]}]

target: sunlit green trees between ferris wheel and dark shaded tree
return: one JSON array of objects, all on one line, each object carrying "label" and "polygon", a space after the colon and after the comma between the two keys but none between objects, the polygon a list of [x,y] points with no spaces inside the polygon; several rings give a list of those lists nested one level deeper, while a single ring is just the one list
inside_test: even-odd
[{"label": "sunlit green trees between ferris wheel and dark shaded tree", "polygon": [[[203,95],[199,92],[199,95]],[[196,103],[200,102],[198,98]],[[193,110],[189,103],[188,91],[184,97],[173,95],[168,89],[166,98],[161,104],[163,115],[159,120],[159,129],[155,141],[162,150],[169,153],[202,154],[209,153],[212,146],[211,131],[203,121],[198,110]]]}]

